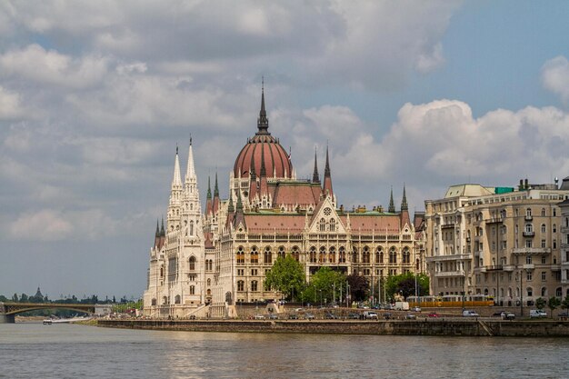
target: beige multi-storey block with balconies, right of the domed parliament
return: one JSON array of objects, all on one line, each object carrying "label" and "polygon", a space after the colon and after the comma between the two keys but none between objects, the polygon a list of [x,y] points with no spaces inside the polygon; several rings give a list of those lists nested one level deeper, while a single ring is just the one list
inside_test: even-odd
[{"label": "beige multi-storey block with balconies, right of the domed parliament", "polygon": [[444,198],[425,201],[432,294],[488,294],[504,306],[561,296],[558,204],[567,195],[565,181],[525,180],[517,188],[454,185]]}]

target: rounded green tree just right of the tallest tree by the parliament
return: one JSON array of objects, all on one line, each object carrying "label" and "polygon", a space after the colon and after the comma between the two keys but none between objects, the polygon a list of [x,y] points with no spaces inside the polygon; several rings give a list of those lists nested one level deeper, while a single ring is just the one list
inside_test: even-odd
[{"label": "rounded green tree just right of the tallest tree by the parliament", "polygon": [[[340,300],[340,293],[345,288],[346,276],[330,267],[320,267],[306,285],[303,299],[313,303],[331,303]],[[344,294],[344,293],[343,293]]]}]

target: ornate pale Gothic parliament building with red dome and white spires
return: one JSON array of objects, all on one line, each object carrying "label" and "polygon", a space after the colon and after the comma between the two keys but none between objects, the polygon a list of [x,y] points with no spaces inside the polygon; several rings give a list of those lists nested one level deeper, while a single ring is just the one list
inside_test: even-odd
[{"label": "ornate pale Gothic parliament building with red dome and white spires", "polygon": [[393,192],[387,211],[345,210],[337,206],[328,149],[324,181],[316,155],[312,179],[299,180],[268,128],[263,93],[257,132],[235,159],[227,199],[215,175],[204,214],[191,142],[184,184],[176,151],[167,224],[157,225],[150,251],[146,315],[234,317],[237,303],[277,299],[265,274],[285,254],[303,264],[307,280],[322,266],[370,281],[423,271],[423,214],[411,220],[405,190],[399,212]]}]

